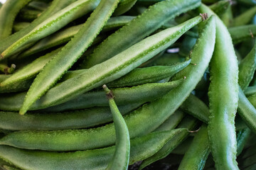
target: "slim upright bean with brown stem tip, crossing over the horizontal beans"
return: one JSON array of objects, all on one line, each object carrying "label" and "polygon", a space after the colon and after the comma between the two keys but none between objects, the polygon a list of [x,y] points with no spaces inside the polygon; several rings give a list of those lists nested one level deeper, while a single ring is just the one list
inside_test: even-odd
[{"label": "slim upright bean with brown stem tip, crossing over the horizontal beans", "polygon": [[114,149],[114,155],[112,160],[107,165],[107,170],[127,170],[129,165],[129,130],[122,117],[122,114],[117,108],[117,104],[114,102],[114,94],[106,85],[102,86],[106,92],[106,96],[110,103],[110,110],[114,120],[114,130],[116,133],[116,145]]}]

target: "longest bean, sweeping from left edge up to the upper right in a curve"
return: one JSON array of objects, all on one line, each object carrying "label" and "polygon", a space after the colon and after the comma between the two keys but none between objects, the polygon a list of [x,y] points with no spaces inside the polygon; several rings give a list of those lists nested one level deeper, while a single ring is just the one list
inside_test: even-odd
[{"label": "longest bean, sweeping from left edge up to the upper right in a curve", "polygon": [[[196,18],[193,18],[193,20],[194,19]],[[176,87],[176,89],[169,91],[163,98],[157,101],[152,101],[151,103],[142,106],[137,111],[124,116],[131,138],[144,135],[158,128],[159,125],[164,123],[164,121],[169,118],[179,106],[181,106],[181,103],[186,100],[191,91],[196,87],[196,84],[198,84],[198,81],[201,80],[201,77],[203,77],[203,74],[208,67],[210,58],[213,55],[213,42],[215,42],[214,18],[210,18],[206,26],[207,27],[204,29],[206,31],[202,33],[201,38],[198,38],[197,45],[193,48],[193,52],[191,53],[191,62],[196,63],[196,66],[193,64],[188,65],[188,67],[181,71],[183,74],[179,74],[179,77],[176,77],[176,79],[179,79],[186,76],[187,78],[183,84]],[[166,32],[164,32],[164,34],[165,33]],[[65,140],[66,138],[68,138],[68,140]],[[55,145],[56,142],[58,145]],[[0,144],[28,149],[90,149],[113,145],[114,127],[113,124],[110,124],[102,128],[89,130],[13,132],[1,138]]]}]

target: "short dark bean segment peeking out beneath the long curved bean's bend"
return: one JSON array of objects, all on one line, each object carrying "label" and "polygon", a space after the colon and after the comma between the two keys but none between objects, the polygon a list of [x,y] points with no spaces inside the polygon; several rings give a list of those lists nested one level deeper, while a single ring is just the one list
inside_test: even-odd
[{"label": "short dark bean segment peeking out beneath the long curved bean's bend", "polygon": [[172,130],[176,128],[176,126],[178,125],[178,123],[181,122],[184,116],[185,114],[182,111],[177,110],[173,115],[170,115],[170,117],[166,119],[164,123],[162,123],[159,126],[159,128],[156,128],[156,130],[154,131],[156,132],[156,131]]}]

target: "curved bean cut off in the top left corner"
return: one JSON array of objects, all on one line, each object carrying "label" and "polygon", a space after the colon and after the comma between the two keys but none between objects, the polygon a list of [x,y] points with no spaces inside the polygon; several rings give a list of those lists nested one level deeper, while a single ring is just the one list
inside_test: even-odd
[{"label": "curved bean cut off in the top left corner", "polygon": [[0,10],[0,38],[6,38],[11,35],[14,25],[14,19],[21,8],[26,6],[31,0],[8,0],[1,6]]}]

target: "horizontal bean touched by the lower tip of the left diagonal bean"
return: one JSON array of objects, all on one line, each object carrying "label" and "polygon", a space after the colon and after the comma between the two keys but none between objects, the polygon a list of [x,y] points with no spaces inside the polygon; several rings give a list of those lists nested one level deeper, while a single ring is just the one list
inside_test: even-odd
[{"label": "horizontal bean touched by the lower tip of the left diagonal bean", "polygon": [[[134,103],[119,106],[119,111],[126,115],[141,105]],[[112,121],[110,108],[107,107],[61,113],[33,112],[26,115],[1,111],[0,115],[0,128],[3,130],[68,130],[91,128]]]}]

